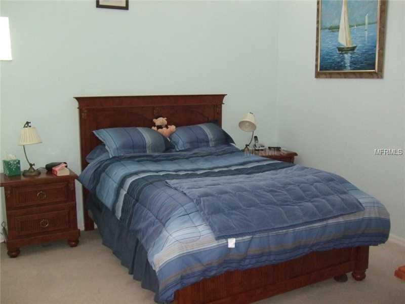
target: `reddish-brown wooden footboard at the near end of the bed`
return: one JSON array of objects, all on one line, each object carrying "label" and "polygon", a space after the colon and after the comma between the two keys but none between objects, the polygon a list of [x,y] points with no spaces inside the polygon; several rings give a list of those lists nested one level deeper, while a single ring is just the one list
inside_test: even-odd
[{"label": "reddish-brown wooden footboard at the near end of the bed", "polygon": [[[246,304],[352,272],[366,278],[369,247],[312,252],[275,265],[226,272],[175,293],[176,304]],[[340,279],[340,278],[339,278]]]}]

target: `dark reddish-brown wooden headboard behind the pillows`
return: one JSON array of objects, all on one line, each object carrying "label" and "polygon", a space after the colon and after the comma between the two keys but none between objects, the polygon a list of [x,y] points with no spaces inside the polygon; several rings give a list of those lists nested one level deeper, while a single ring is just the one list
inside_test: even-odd
[{"label": "dark reddish-brown wooden headboard behind the pillows", "polygon": [[[93,134],[94,130],[115,127],[150,128],[156,115],[167,117],[170,125],[178,127],[212,120],[216,120],[221,126],[225,95],[74,97],[79,104],[82,170],[88,165],[86,156],[100,144],[100,140]],[[89,220],[91,219],[85,211],[86,230],[93,227]]]}]

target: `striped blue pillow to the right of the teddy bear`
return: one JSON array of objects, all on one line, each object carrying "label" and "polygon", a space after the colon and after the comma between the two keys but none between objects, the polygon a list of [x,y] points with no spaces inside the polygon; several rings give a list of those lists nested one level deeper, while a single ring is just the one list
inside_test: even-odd
[{"label": "striped blue pillow to the right of the teddy bear", "polygon": [[178,127],[176,132],[170,135],[170,140],[177,151],[234,143],[233,139],[214,123]]}]

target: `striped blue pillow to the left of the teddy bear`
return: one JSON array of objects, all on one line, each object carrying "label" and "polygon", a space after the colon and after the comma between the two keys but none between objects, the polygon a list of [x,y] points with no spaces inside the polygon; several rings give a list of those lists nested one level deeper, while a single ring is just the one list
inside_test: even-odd
[{"label": "striped blue pillow to the left of the teddy bear", "polygon": [[162,153],[171,148],[170,141],[149,128],[109,128],[93,133],[105,143],[111,157],[135,153]]}]

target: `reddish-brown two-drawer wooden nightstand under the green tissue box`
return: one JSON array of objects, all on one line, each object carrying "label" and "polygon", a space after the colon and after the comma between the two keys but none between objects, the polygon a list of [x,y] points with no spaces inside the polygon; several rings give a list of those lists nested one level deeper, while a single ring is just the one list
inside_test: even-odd
[{"label": "reddish-brown two-drawer wooden nightstand under the green tissue box", "polygon": [[0,176],[6,196],[7,254],[17,257],[20,247],[67,240],[76,247],[77,229],[74,180],[77,175],[55,176],[41,170],[38,176]]}]

